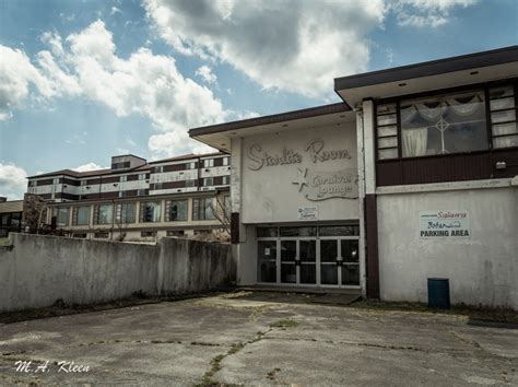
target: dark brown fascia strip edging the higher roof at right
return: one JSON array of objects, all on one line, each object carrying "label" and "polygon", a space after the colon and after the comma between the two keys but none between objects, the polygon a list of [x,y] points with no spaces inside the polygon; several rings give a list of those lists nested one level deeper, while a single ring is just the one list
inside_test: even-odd
[{"label": "dark brown fascia strip edging the higher roof at right", "polygon": [[412,78],[438,75],[447,72],[503,64],[518,61],[518,46],[432,60],[392,69],[365,72],[334,79],[334,91],[398,82]]}]

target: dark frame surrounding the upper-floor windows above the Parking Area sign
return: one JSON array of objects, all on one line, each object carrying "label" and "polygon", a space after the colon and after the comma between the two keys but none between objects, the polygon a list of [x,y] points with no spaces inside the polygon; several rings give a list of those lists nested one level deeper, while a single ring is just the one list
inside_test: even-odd
[{"label": "dark frame surrounding the upper-floor windows above the Parking Area sign", "polygon": [[[506,86],[510,85],[514,87],[514,97],[515,97],[515,117],[517,118],[518,125],[518,79],[507,79],[502,81],[495,82],[485,82],[485,83],[478,83],[478,84],[469,84],[456,87],[448,87],[448,89],[439,89],[428,92],[422,93],[414,93],[414,94],[405,94],[400,95],[397,97],[389,97],[389,98],[380,98],[380,99],[373,99],[373,141],[374,141],[374,151],[375,151],[375,162],[376,163],[396,163],[396,162],[403,162],[410,160],[424,160],[424,159],[437,159],[437,157],[451,157],[458,156],[462,154],[480,154],[480,153],[487,153],[494,151],[509,151],[516,150],[518,146],[507,146],[507,148],[494,148],[493,145],[493,128],[492,128],[492,120],[491,120],[491,109],[490,109],[490,98],[488,93],[491,89],[496,89],[498,86]],[[410,156],[403,157],[402,156],[402,144],[401,144],[401,110],[400,110],[400,103],[404,99],[413,99],[413,98],[422,98],[422,97],[433,97],[439,96],[444,94],[450,93],[461,93],[467,91],[476,91],[480,90],[484,93],[484,107],[485,107],[485,126],[487,131],[487,149],[484,150],[475,150],[475,151],[467,151],[467,152],[456,152],[456,153],[447,153],[447,154],[427,154],[423,156]],[[396,104],[396,114],[397,114],[397,138],[398,138],[398,157],[393,159],[379,159],[379,150],[378,148],[378,121],[377,121],[377,108],[380,105],[387,104]],[[513,108],[509,108],[513,109]],[[501,124],[501,122],[498,122]]]}]

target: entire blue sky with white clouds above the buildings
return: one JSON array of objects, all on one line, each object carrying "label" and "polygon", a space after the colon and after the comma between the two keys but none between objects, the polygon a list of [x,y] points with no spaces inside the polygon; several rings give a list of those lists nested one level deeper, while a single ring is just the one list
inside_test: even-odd
[{"label": "entire blue sky with white clouds above the buildings", "polygon": [[515,0],[0,0],[0,196],[205,149],[190,127],[338,102],[335,77],[515,45]]}]

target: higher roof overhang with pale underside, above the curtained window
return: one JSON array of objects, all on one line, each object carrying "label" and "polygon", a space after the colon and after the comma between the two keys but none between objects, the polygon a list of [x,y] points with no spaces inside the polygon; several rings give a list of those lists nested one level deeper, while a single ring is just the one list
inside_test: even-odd
[{"label": "higher roof overhang with pale underside, above the curtained window", "polygon": [[518,77],[518,46],[334,79],[334,91],[350,106],[439,89]]}]

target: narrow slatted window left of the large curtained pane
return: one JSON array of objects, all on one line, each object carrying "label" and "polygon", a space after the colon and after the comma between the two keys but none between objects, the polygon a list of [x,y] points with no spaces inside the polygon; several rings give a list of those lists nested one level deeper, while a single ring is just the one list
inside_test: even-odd
[{"label": "narrow slatted window left of the large curtained pane", "polygon": [[397,105],[379,105],[376,108],[376,138],[378,160],[398,157],[398,114]]}]

